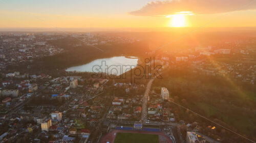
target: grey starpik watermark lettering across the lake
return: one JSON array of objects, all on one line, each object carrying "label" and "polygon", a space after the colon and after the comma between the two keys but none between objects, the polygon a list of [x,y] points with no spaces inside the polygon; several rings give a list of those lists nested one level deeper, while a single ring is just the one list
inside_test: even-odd
[{"label": "grey starpik watermark lettering across the lake", "polygon": [[[106,61],[101,61],[101,65],[92,67],[93,76],[110,79],[127,79],[130,78],[131,83],[136,79],[162,79],[161,70],[162,62],[155,58],[145,58],[140,60],[138,65],[108,65]],[[104,73],[104,74],[102,74]]]}]

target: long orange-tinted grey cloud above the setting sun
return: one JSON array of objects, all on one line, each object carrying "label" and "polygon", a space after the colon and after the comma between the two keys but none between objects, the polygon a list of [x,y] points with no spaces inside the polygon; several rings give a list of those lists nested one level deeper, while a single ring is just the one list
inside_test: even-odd
[{"label": "long orange-tinted grey cloud above the setting sun", "polygon": [[214,14],[239,10],[256,9],[255,0],[173,0],[147,3],[131,15],[163,16],[189,11],[194,14]]}]

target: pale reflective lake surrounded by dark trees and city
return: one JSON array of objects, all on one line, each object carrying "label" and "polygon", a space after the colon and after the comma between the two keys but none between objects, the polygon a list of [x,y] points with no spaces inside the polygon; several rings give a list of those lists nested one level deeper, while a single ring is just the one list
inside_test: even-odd
[{"label": "pale reflective lake surrounded by dark trees and city", "polygon": [[112,58],[97,59],[88,64],[74,66],[66,71],[77,72],[105,72],[109,74],[120,75],[125,71],[135,67],[138,63],[138,58],[135,56],[113,56]]}]

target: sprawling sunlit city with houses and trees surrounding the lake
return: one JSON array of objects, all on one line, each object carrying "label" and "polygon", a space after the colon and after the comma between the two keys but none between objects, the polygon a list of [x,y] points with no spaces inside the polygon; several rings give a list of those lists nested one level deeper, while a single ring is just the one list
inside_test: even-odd
[{"label": "sprawling sunlit city with houses and trees surrounding the lake", "polygon": [[[172,51],[127,35],[0,33],[0,142],[256,140],[256,38]],[[150,59],[159,74],[131,82],[65,71],[121,55]]]}]

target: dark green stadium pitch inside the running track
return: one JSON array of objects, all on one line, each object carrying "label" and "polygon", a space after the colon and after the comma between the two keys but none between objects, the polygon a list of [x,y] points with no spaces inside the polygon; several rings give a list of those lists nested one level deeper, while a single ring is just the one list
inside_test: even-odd
[{"label": "dark green stadium pitch inside the running track", "polygon": [[114,143],[159,143],[157,134],[117,133]]}]

